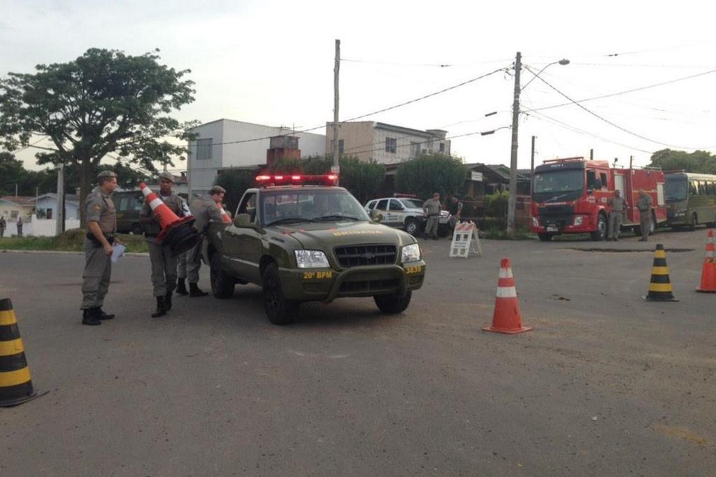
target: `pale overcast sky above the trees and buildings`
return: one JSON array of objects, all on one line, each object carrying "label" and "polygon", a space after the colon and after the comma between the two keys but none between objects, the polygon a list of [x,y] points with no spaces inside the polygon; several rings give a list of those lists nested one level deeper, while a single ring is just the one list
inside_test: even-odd
[{"label": "pale overcast sky above the trees and buildings", "polygon": [[[341,40],[340,117],[412,100],[512,64],[517,51],[575,100],[716,69],[706,1],[32,1],[0,0],[0,75],[66,62],[90,47],[191,69],[195,102],[181,120],[220,117],[296,129],[333,119],[334,39]],[[619,53],[613,57],[609,54]],[[450,64],[450,67],[426,65]],[[532,75],[523,70],[522,85]],[[669,144],[716,152],[716,72],[627,95],[521,115],[518,165],[589,155],[637,165]],[[448,135],[511,124],[513,77],[499,72],[442,95],[368,117]],[[522,106],[565,102],[534,80]],[[484,117],[498,111],[498,115]],[[558,122],[553,122],[556,120]],[[583,133],[570,130],[576,128]],[[316,130],[325,134],[325,130]],[[509,165],[510,131],[453,140],[465,162]],[[594,136],[599,136],[596,138]],[[658,141],[654,143],[650,140]],[[42,145],[40,143],[39,145]],[[34,167],[34,152],[19,154]],[[179,163],[178,166],[181,164]]]}]

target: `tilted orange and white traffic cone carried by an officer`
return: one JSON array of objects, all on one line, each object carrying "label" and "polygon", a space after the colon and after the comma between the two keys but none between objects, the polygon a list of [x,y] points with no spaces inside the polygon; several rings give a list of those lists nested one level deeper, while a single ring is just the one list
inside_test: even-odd
[{"label": "tilted orange and white traffic cone carried by an officer", "polygon": [[147,187],[147,184],[140,182],[139,188],[162,227],[162,231],[157,236],[159,243],[166,244],[173,256],[193,249],[199,242],[199,233],[192,226],[195,218],[193,216],[179,218],[157,194]]}]

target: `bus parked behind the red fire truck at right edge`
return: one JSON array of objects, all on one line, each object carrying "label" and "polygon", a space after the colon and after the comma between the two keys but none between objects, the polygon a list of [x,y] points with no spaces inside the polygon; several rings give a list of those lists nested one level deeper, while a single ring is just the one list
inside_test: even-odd
[{"label": "bus parked behind the red fire truck at right edge", "polygon": [[664,176],[667,223],[672,228],[716,225],[716,175],[672,172]]}]

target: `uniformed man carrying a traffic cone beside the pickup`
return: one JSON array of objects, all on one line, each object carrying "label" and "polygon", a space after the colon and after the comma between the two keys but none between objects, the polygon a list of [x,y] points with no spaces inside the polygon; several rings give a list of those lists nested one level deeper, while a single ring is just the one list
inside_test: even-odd
[{"label": "uniformed man carrying a traffic cone beside the pickup", "polygon": [[[185,202],[172,191],[174,176],[163,172],[159,175],[159,198],[177,216],[183,216]],[[139,213],[139,221],[145,228],[145,240],[152,263],[152,285],[157,309],[153,318],[162,317],[172,308],[172,292],[177,284],[177,259],[172,256],[168,246],[159,244],[157,236],[162,231],[159,219],[155,216],[149,203],[145,201]]]}]

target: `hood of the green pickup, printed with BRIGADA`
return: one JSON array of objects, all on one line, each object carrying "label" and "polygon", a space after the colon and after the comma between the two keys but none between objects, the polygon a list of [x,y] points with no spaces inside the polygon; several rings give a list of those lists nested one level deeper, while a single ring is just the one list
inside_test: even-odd
[{"label": "hood of the green pickup, printed with BRIGADA", "polygon": [[323,250],[326,247],[364,244],[415,244],[409,233],[372,222],[345,221],[331,223],[301,223],[295,226],[277,226],[277,231],[290,235],[304,249]]}]

